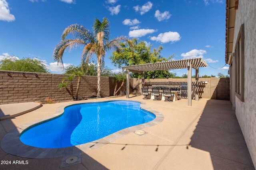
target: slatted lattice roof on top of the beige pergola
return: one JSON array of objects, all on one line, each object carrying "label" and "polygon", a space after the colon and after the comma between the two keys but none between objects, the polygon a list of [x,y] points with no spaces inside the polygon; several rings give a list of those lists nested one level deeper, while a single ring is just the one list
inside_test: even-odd
[{"label": "slatted lattice roof on top of the beige pergola", "polygon": [[123,70],[128,69],[130,72],[171,70],[171,69],[188,68],[188,63],[190,63],[192,67],[195,69],[198,69],[198,67],[208,66],[208,64],[202,58],[196,58],[196,59],[184,59],[184,60],[164,61],[164,62],[158,62],[158,63],[122,66],[122,69]]}]

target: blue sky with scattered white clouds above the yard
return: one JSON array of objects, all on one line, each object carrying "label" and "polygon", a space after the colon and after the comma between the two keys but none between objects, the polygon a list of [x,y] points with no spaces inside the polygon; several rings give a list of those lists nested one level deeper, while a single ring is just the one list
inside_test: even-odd
[{"label": "blue sky with scattered white clouds above the yard", "polygon": [[[62,73],[52,54],[64,29],[77,23],[92,30],[95,18],[108,18],[111,39],[138,38],[152,50],[161,45],[161,55],[175,60],[202,57],[209,66],[199,69],[200,76],[227,75],[225,7],[224,0],[0,0],[0,59],[37,58],[50,72]],[[66,51],[64,66],[79,65],[81,49]],[[106,66],[120,70],[110,55]]]}]

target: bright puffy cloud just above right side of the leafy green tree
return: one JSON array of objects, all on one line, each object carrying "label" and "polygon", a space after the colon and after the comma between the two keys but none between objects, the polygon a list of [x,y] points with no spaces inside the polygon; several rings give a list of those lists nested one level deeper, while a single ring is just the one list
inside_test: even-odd
[{"label": "bright puffy cloud just above right side of the leafy green tree", "polygon": [[168,42],[176,42],[181,39],[180,34],[177,32],[165,32],[160,33],[157,37],[150,37],[152,41],[161,42],[161,43],[168,43]]}]

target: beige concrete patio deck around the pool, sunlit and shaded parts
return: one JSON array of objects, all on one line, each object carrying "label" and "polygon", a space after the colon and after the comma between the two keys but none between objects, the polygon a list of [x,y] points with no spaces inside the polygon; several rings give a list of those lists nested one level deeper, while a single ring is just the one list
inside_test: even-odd
[{"label": "beige concrete patio deck around the pool, sunlit and shaded parts", "polygon": [[[62,166],[65,160],[62,156],[14,156],[2,150],[5,143],[1,142],[0,169],[45,170],[63,167],[61,169],[64,170],[254,170],[230,101],[200,99],[199,102],[192,100],[192,106],[187,106],[186,99],[164,102],[142,98],[136,96],[128,100],[143,102],[145,107],[164,116],[156,125],[133,129],[145,131],[144,135],[137,135],[131,131],[107,144],[93,143],[91,147],[80,145],[76,147],[80,153],[80,160],[70,166]],[[53,115],[58,107],[107,100],[127,99],[122,96],[44,104],[29,113],[1,120],[0,140],[2,141],[11,131],[19,132],[19,127],[26,123]],[[17,147],[17,150],[22,149]],[[63,150],[66,151],[68,148]],[[72,150],[70,152],[72,154]],[[77,154],[77,150],[74,152]],[[32,154],[40,153],[35,151]],[[6,164],[7,160],[11,164]]]}]

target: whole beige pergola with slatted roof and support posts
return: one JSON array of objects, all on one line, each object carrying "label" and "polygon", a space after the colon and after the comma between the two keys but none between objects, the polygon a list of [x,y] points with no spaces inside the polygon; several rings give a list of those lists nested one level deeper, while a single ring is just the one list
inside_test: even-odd
[{"label": "whole beige pergola with slatted roof and support posts", "polygon": [[130,72],[142,73],[142,83],[144,83],[144,74],[146,71],[156,70],[171,70],[188,68],[188,106],[192,105],[192,68],[196,70],[196,89],[195,100],[199,101],[199,67],[207,67],[208,64],[202,58],[196,59],[184,59],[174,61],[164,61],[159,63],[138,64],[132,66],[122,66],[123,70],[126,70],[126,98],[129,98],[130,93]]}]

